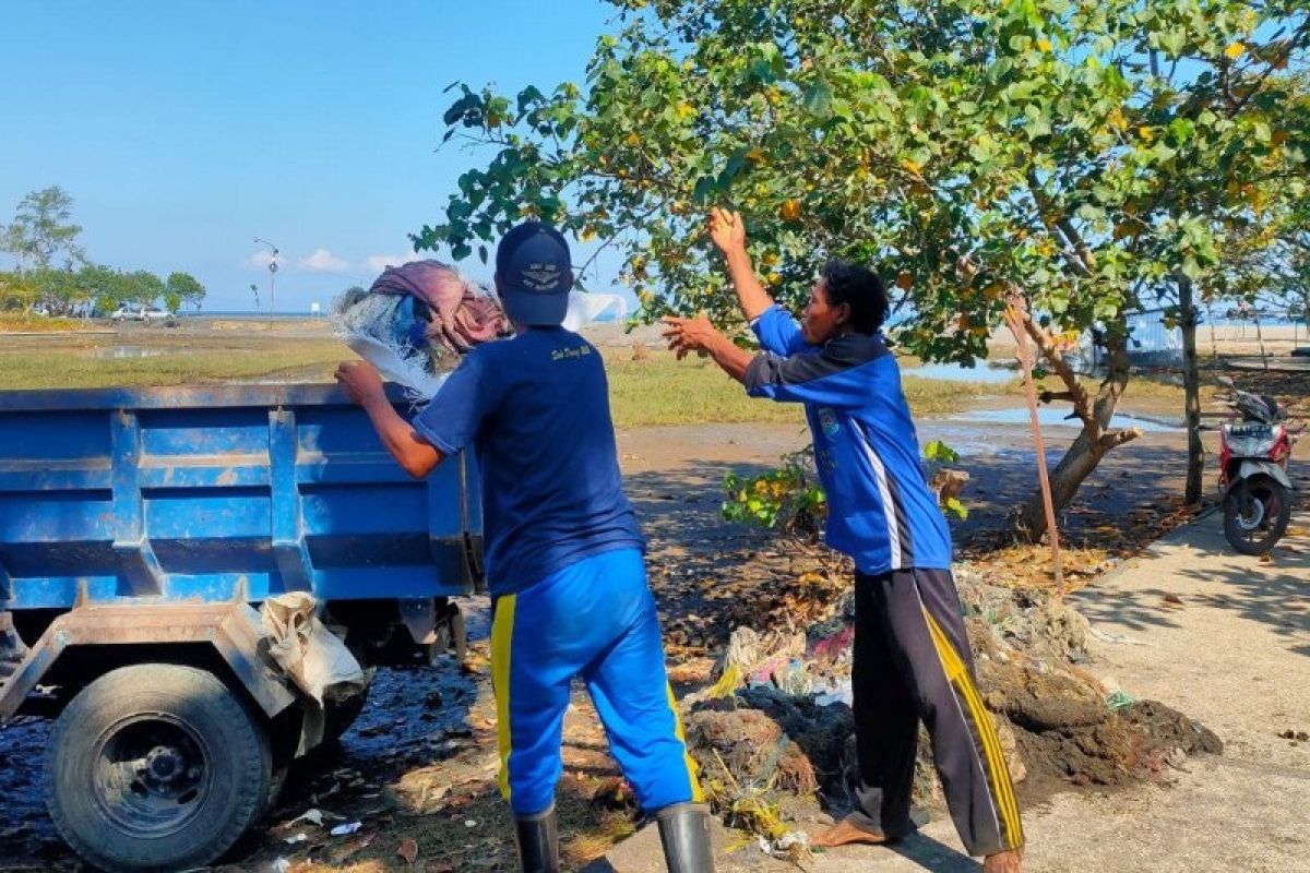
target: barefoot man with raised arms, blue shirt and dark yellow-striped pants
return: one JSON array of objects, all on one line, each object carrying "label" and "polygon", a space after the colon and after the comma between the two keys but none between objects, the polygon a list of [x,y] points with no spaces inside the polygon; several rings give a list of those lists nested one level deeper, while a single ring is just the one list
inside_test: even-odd
[{"label": "barefoot man with raised arms, blue shirt and dark yellow-striped pants", "polygon": [[709,352],[752,397],[803,403],[828,497],[825,538],[855,563],[854,711],[859,809],[816,846],[887,843],[909,818],[918,722],[959,830],[988,873],[1020,868],[1023,827],[951,579],[951,537],[924,478],[896,360],[879,330],[882,281],[831,263],[796,321],[756,279],[745,229],[715,209],[710,237],[727,259],[762,352],[738,348],[703,317],[665,318],[669,346]]}]

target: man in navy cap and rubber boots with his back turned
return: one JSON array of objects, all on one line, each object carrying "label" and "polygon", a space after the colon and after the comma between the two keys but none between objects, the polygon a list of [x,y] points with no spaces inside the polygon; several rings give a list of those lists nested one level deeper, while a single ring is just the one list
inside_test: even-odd
[{"label": "man in navy cap and rubber boots with his back turned", "polygon": [[466,446],[477,454],[500,791],[523,869],[559,869],[554,791],[579,675],[638,802],[656,817],[668,869],[707,873],[707,811],[664,671],[604,364],[561,326],[572,285],[565,238],[534,221],[511,229],[495,281],[516,336],[470,351],[413,423],[367,363],[342,364],[337,378],[411,475]]}]

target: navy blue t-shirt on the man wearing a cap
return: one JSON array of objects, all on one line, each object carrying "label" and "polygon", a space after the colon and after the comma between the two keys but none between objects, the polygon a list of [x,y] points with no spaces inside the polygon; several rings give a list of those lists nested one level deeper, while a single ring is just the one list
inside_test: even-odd
[{"label": "navy blue t-shirt on the man wearing a cap", "polygon": [[536,327],[478,346],[413,424],[443,454],[477,454],[494,597],[583,558],[645,548],[618,472],[605,368],[582,336]]}]

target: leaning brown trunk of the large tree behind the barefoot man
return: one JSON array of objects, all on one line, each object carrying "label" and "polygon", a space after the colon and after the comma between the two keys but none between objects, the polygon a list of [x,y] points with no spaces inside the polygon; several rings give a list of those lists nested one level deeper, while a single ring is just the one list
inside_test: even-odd
[{"label": "leaning brown trunk of the large tree behind the barefoot man", "polygon": [[[1043,348],[1043,352],[1047,349]],[[1047,356],[1049,360],[1049,355]],[[1087,398],[1090,408],[1079,410],[1077,401],[1074,403],[1074,412],[1083,420],[1082,433],[1060,458],[1056,469],[1051,471],[1051,500],[1056,512],[1073,501],[1078,487],[1091,475],[1110,449],[1140,435],[1136,428],[1110,429],[1115,407],[1119,406],[1119,398],[1123,397],[1124,387],[1128,385],[1128,331],[1123,322],[1115,325],[1106,334],[1106,364],[1108,369],[1106,381],[1100,383],[1094,401]],[[1061,376],[1068,382],[1069,377]],[[1032,542],[1047,533],[1045,508],[1040,488],[1019,509],[1015,518],[1015,533]]]}]

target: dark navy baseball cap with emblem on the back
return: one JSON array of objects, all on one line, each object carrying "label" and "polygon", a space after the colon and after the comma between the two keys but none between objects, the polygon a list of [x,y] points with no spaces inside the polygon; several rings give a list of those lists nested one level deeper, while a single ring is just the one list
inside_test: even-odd
[{"label": "dark navy baseball cap with emblem on the back", "polygon": [[510,319],[525,326],[559,325],[569,310],[572,259],[554,228],[524,221],[495,250],[498,289]]}]

